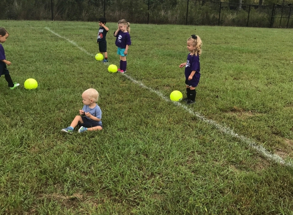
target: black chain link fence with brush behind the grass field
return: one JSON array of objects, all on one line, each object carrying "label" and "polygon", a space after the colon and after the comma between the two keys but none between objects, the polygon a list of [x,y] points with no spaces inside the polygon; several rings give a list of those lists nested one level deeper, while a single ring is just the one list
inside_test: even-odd
[{"label": "black chain link fence with brush behind the grass field", "polygon": [[[293,28],[292,5],[247,5],[204,0],[3,0],[0,19]],[[159,4],[160,3],[160,4]]]}]

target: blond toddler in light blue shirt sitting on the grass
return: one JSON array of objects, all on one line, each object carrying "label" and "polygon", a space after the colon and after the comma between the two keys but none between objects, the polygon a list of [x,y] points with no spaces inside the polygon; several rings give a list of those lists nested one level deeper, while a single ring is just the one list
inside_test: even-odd
[{"label": "blond toddler in light blue shirt sitting on the grass", "polygon": [[89,88],[81,95],[83,107],[79,110],[80,116],[76,116],[71,125],[63,128],[61,131],[72,134],[74,128],[79,124],[79,133],[84,131],[102,130],[102,111],[96,103],[99,99],[99,93],[93,88]]}]

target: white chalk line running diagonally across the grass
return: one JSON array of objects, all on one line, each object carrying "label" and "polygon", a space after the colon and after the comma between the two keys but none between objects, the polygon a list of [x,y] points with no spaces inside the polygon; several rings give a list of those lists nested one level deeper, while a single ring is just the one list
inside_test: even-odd
[{"label": "white chalk line running diagonally across the grass", "polygon": [[[86,51],[84,48],[78,46],[74,41],[70,40],[70,39],[67,39],[57,33],[55,33],[54,31],[52,31],[50,28],[46,27],[45,28],[46,30],[48,30],[49,32],[51,32],[52,34],[56,35],[57,37],[60,37],[70,43],[72,43],[74,46],[76,46],[77,48],[79,48],[81,51],[83,51],[84,53],[86,53],[87,55],[89,56],[95,56],[91,53],[89,53],[88,51]],[[163,95],[161,92],[159,91],[156,91],[156,90],[153,90],[152,88],[150,87],[147,87],[145,86],[142,82],[139,82],[138,80],[132,78],[131,76],[125,74],[125,73],[122,73],[122,75],[124,75],[126,78],[128,78],[129,80],[131,80],[131,82],[133,82],[134,84],[137,84],[147,90],[149,90],[150,92],[153,92],[155,94],[157,94],[159,97],[161,97],[162,99],[164,99],[165,101],[167,102],[172,102],[174,103],[175,105],[179,106],[179,107],[182,107],[184,110],[186,110],[189,114],[195,116],[196,118],[200,119],[201,121],[204,121],[214,127],[216,127],[219,131],[225,133],[226,135],[230,135],[234,138],[237,138],[239,139],[241,142],[245,143],[246,145],[250,146],[251,148],[253,148],[254,150],[256,150],[258,153],[262,154],[264,157],[266,157],[267,159],[269,160],[273,160],[274,162],[276,163],[280,163],[280,164],[283,164],[285,166],[290,166],[290,167],[293,167],[293,164],[291,162],[285,162],[285,160],[280,157],[279,155],[277,154],[273,154],[269,151],[267,151],[263,146],[260,146],[258,145],[255,141],[252,141],[250,140],[249,138],[246,138],[242,135],[238,135],[238,133],[235,133],[231,128],[229,127],[226,127],[226,126],[222,126],[220,124],[218,124],[216,121],[214,120],[210,120],[210,119],[207,119],[205,116],[202,116],[200,115],[199,113],[197,112],[194,112],[192,109],[190,109],[187,105],[184,105],[182,103],[179,103],[179,102],[173,102],[171,101],[168,97],[166,97],[165,95]]]}]

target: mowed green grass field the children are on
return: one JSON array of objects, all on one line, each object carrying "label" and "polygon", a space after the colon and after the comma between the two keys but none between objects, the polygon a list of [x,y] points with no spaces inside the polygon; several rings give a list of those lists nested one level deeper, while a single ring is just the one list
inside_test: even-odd
[{"label": "mowed green grass field the children are on", "polygon": [[[119,65],[116,23],[106,24]],[[293,171],[94,58],[98,23],[1,20],[0,214],[293,214]],[[53,34],[55,32],[59,36]],[[190,110],[292,159],[293,30],[131,24],[127,75],[185,95],[186,40],[202,46]],[[71,42],[70,42],[71,41]],[[73,44],[74,43],[74,44]],[[77,47],[78,46],[78,47]],[[80,48],[82,49],[80,49]],[[36,90],[24,89],[35,78]],[[60,130],[100,93],[104,129]]]}]

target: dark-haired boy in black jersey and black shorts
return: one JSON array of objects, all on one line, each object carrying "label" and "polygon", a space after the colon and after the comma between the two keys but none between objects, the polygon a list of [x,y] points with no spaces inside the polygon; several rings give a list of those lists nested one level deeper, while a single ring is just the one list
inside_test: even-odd
[{"label": "dark-haired boy in black jersey and black shorts", "polygon": [[99,18],[100,28],[98,32],[97,43],[99,44],[100,53],[102,55],[104,54],[104,60],[103,60],[104,63],[108,62],[106,35],[107,35],[107,32],[109,31],[108,27],[105,24],[106,24],[106,18],[104,17]]}]

